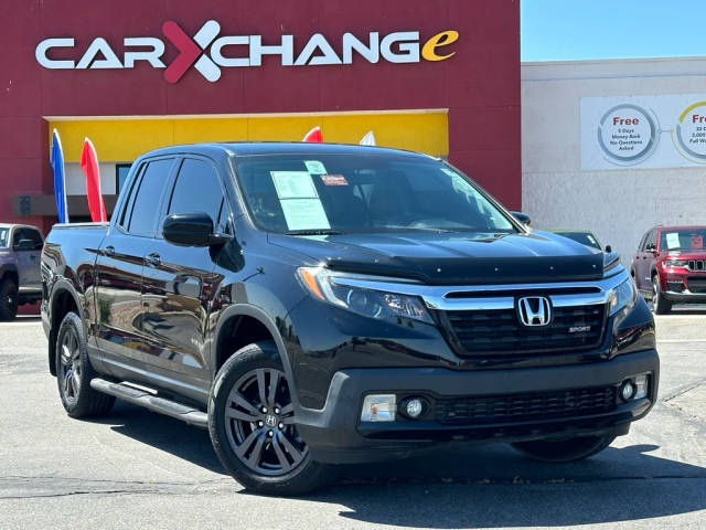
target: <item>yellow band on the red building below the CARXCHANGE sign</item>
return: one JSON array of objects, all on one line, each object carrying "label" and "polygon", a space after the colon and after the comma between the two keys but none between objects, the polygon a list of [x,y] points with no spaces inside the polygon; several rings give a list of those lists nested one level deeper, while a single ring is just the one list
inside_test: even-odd
[{"label": "yellow band on the red building below the CARXCHANGE sign", "polygon": [[84,138],[100,161],[131,161],[158,147],[200,141],[299,141],[320,126],[324,141],[357,144],[368,130],[378,146],[434,156],[449,152],[448,114],[443,109],[384,113],[321,113],[218,117],[49,118],[50,142],[58,130],[67,162],[81,160]]}]

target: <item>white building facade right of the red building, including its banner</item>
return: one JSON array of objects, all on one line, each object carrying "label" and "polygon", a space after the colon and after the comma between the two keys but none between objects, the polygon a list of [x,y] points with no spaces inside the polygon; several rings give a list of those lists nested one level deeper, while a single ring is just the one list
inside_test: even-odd
[{"label": "white building facade right of the red building, including its banner", "polygon": [[706,224],[706,59],[522,64],[522,202],[629,265],[657,224]]}]

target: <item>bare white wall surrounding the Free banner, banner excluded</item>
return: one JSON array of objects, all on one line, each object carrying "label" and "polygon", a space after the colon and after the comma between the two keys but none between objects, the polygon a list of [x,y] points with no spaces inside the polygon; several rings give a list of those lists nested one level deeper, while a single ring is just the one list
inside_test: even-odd
[{"label": "bare white wall surrounding the Free banner, banner excluded", "polygon": [[706,167],[581,171],[580,98],[703,93],[706,59],[524,63],[522,202],[538,229],[590,229],[623,264],[655,224],[706,224]]}]

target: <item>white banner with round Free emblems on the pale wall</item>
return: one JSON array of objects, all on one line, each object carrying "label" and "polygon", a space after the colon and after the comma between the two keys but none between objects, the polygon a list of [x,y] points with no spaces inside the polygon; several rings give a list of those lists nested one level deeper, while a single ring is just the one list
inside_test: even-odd
[{"label": "white banner with round Free emblems on the pale wall", "polygon": [[706,166],[706,94],[581,98],[581,169]]}]

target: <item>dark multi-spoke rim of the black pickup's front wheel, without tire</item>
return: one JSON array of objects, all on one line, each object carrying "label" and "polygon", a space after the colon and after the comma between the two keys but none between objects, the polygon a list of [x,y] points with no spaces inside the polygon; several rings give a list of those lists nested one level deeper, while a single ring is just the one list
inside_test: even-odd
[{"label": "dark multi-spoke rim of the black pickup's front wheel, without tire", "polygon": [[281,370],[261,368],[243,375],[228,394],[224,414],[235,455],[258,474],[290,473],[309,455],[295,426],[289,385]]}]

